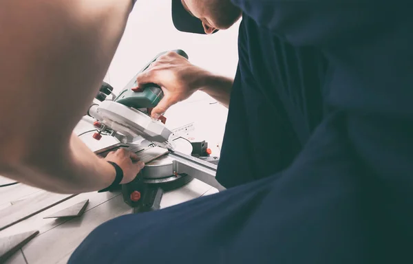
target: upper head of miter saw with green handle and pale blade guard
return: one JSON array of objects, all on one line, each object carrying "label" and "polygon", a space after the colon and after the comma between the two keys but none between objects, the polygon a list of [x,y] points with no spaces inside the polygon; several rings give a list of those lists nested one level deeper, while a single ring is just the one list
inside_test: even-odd
[{"label": "upper head of miter saw with green handle and pale blade guard", "polygon": [[[182,50],[173,50],[172,52],[188,59],[187,54]],[[153,83],[138,87],[136,82],[138,74],[145,72],[153,62],[164,54],[167,52],[161,52],[149,61],[113,100],[107,100],[106,97],[107,94],[113,95],[113,88],[109,84],[103,83],[98,96],[96,96],[96,99],[100,100],[101,103],[93,104],[88,111],[88,115],[96,119],[94,125],[99,131],[94,135],[96,140],[100,140],[100,133],[105,132],[124,143],[136,142],[139,137],[142,137],[158,146],[173,148],[173,144],[169,141],[172,132],[165,126],[166,118],[161,116],[159,120],[153,120],[150,117],[151,110],[164,96],[162,89]]]}]

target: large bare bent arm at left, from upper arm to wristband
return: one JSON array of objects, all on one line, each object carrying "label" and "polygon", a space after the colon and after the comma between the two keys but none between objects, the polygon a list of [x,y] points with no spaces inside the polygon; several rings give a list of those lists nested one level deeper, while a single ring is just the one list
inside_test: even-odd
[{"label": "large bare bent arm at left, from upper arm to wristband", "polygon": [[7,25],[0,174],[56,192],[111,184],[109,166],[72,130],[101,85],[130,11],[130,0],[0,2],[0,26]]}]

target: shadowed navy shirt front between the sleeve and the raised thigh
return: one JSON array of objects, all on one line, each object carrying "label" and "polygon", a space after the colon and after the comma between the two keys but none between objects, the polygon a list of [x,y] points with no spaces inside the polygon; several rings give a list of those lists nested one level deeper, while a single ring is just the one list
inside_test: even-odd
[{"label": "shadowed navy shirt front between the sleeve and the raised thigh", "polygon": [[324,113],[326,60],[319,50],[293,47],[244,16],[238,52],[217,172],[226,188],[289,166]]}]

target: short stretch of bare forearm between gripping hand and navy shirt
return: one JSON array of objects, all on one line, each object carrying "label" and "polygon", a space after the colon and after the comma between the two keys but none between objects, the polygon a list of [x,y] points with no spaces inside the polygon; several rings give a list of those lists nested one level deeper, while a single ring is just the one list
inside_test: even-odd
[{"label": "short stretch of bare forearm between gripping hand and navy shirt", "polygon": [[202,85],[200,91],[209,94],[209,96],[228,108],[232,86],[233,79],[224,76],[210,75],[204,78],[204,85]]}]

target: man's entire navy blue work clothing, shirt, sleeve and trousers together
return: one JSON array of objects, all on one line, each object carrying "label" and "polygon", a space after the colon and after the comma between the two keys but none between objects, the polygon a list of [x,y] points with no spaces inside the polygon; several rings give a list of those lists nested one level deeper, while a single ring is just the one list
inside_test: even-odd
[{"label": "man's entire navy blue work clothing, shirt, sleeve and trousers together", "polygon": [[410,8],[233,3],[231,188],[108,221],[69,263],[413,263]]}]

